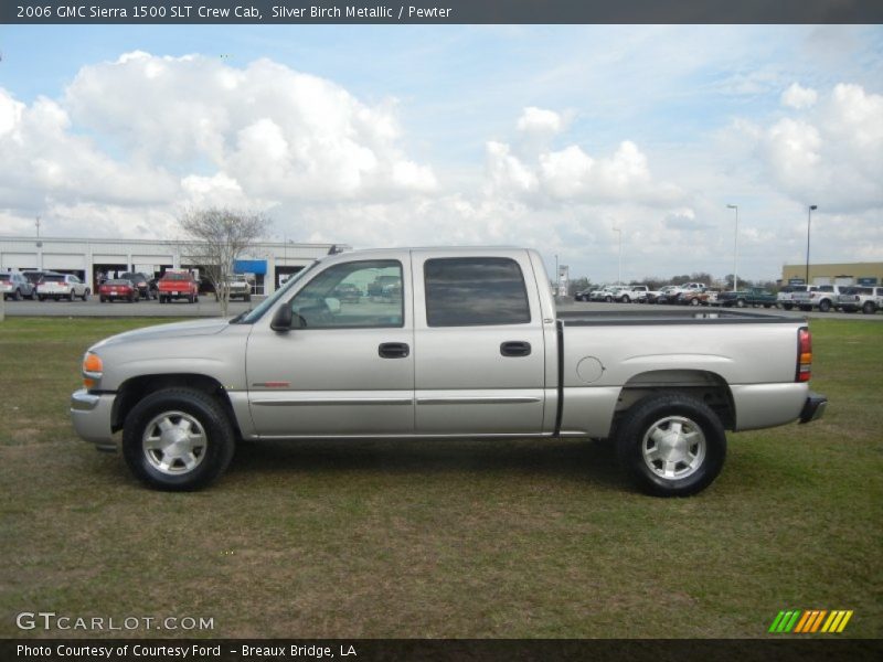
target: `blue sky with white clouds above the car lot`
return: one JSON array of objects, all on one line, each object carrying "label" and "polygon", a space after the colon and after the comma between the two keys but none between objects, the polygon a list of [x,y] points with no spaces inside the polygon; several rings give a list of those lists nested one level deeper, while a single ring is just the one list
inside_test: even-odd
[{"label": "blue sky with white clouds above the car lot", "polygon": [[883,28],[3,26],[0,234],[513,244],[572,277],[883,260]]}]

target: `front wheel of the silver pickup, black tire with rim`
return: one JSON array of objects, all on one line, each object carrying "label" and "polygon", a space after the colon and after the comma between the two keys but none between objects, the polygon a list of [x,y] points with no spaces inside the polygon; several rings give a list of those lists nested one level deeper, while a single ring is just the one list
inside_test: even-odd
[{"label": "front wheel of the silver pickup, black tire with rim", "polygon": [[[171,430],[160,431],[161,421],[168,421]],[[168,450],[181,450],[175,435],[190,444],[187,458],[180,457],[183,453],[171,457]],[[155,448],[146,448],[151,437]],[[148,395],[129,412],[123,428],[126,465],[156,490],[182,492],[209,485],[230,466],[234,449],[233,427],[221,404],[193,388],[164,388]],[[188,467],[188,461],[193,466]]]}]

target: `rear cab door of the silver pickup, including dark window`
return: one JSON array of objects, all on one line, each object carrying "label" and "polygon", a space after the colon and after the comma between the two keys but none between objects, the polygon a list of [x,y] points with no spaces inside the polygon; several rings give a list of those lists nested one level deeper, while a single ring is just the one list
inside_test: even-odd
[{"label": "rear cab door of the silver pickup, including dark window", "polygon": [[542,431],[545,352],[526,252],[415,250],[415,431]]}]

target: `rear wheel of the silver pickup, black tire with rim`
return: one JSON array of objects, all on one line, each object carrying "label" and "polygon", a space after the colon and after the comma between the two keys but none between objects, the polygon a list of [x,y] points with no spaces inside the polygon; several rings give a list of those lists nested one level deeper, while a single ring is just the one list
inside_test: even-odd
[{"label": "rear wheel of the silver pickup, black tire with rim", "polygon": [[[663,439],[653,439],[655,431]],[[660,450],[662,445],[667,448]],[[689,496],[721,473],[726,434],[717,415],[701,401],[679,393],[649,395],[619,423],[616,452],[642,491],[655,496]],[[655,457],[664,452],[675,461]]]}]

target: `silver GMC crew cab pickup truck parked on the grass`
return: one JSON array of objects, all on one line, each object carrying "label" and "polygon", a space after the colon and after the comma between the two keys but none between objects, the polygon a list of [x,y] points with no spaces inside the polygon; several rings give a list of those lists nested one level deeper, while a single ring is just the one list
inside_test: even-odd
[{"label": "silver GMC crew cab pickup truck parked on the grass", "polygon": [[720,473],[726,429],[825,409],[801,321],[556,314],[547,282],[517,248],[327,256],[237,318],[93,345],[71,415],[102,450],[121,430],[126,463],[163,490],[209,484],[243,439],[583,437],[613,439],[641,489],[687,495]]}]

